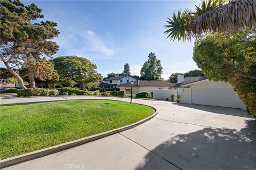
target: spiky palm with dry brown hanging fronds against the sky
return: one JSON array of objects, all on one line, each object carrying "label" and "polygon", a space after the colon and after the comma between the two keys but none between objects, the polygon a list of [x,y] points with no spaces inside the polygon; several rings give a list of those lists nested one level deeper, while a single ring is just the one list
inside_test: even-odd
[{"label": "spiky palm with dry brown hanging fronds against the sky", "polygon": [[202,0],[195,10],[173,13],[164,26],[167,38],[186,41],[206,32],[256,28],[256,0]]}]

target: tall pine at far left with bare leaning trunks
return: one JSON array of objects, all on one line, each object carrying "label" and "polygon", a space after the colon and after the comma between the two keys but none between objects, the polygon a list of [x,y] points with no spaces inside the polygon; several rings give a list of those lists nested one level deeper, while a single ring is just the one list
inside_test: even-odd
[{"label": "tall pine at far left with bare leaning trunks", "polygon": [[[0,2],[0,59],[6,68],[17,78],[23,89],[23,79],[14,71],[17,66],[26,66],[29,70],[30,87],[35,87],[35,66],[41,55],[51,57],[58,45],[50,41],[58,36],[52,21],[35,22],[44,18],[41,8],[35,4],[25,6],[19,0]],[[45,65],[47,66],[47,65]]]}]

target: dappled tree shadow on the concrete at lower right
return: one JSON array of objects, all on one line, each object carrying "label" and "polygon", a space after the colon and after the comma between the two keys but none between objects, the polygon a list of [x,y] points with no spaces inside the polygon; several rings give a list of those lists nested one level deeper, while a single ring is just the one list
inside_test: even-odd
[{"label": "dappled tree shadow on the concrete at lower right", "polygon": [[256,169],[256,121],[246,123],[241,131],[204,128],[176,135],[152,150],[166,160],[150,152],[137,169],[175,169],[170,163],[181,169]]}]

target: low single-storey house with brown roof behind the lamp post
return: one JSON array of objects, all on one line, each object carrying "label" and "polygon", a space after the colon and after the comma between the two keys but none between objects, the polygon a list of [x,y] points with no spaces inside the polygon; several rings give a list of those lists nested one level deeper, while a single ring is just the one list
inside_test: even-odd
[{"label": "low single-storey house with brown roof behind the lamp post", "polygon": [[[131,82],[119,85],[120,91],[125,91],[126,94],[131,94]],[[132,94],[138,94],[139,92],[149,92],[152,95],[155,89],[171,89],[174,84],[166,81],[158,80],[137,80],[133,81]]]}]

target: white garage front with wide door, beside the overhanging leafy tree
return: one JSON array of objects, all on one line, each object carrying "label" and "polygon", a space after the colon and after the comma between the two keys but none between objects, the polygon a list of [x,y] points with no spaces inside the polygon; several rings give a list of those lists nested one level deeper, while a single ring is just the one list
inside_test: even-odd
[{"label": "white garage front with wide door, beside the overhanging leafy tree", "polygon": [[191,103],[243,108],[243,102],[229,83],[204,81],[191,85]]}]

